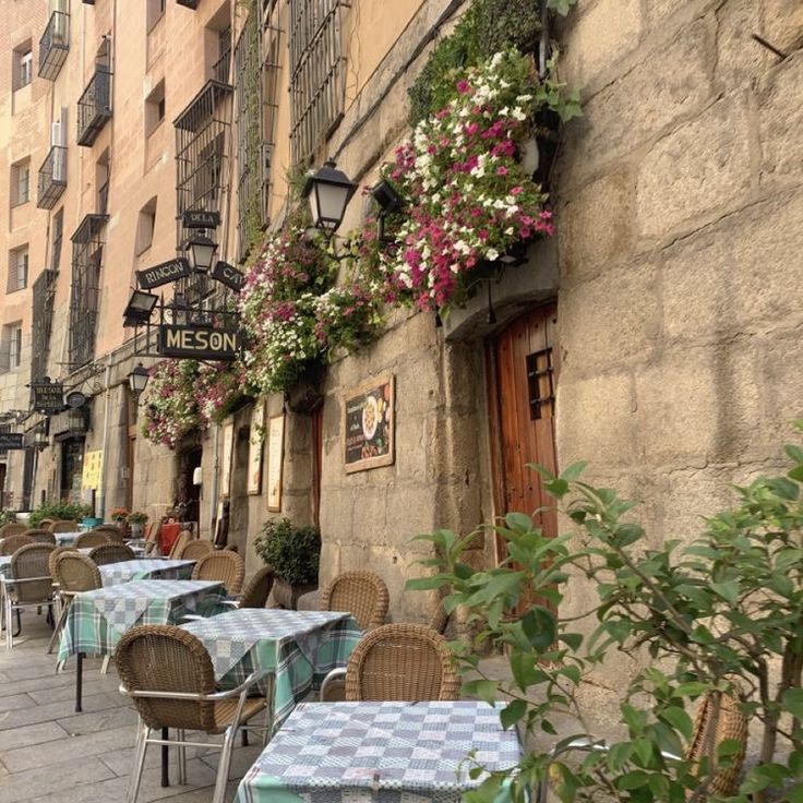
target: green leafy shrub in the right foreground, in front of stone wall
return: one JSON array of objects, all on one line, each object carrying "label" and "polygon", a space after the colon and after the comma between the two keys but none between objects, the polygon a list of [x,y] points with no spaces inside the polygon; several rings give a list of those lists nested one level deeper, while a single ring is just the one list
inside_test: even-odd
[{"label": "green leafy shrub in the right foreground, in front of stone wall", "polygon": [[[513,680],[479,675],[464,692],[508,697],[506,728],[555,734],[556,718],[571,715],[576,732],[555,753],[576,739],[594,743],[578,703],[584,678],[604,671],[620,650],[643,666],[620,706],[625,739],[578,764],[527,753],[508,772],[492,774],[469,803],[490,803],[506,780],[524,801],[548,776],[562,801],[803,802],[803,450],[786,453],[786,476],[736,487],[736,506],[705,519],[691,542],[650,547],[631,520],[634,504],[583,482],[584,464],[560,476],[534,467],[578,532],[550,539],[529,516],[510,513],[481,528],[503,539],[508,555],[481,571],[463,560],[477,532],[419,537],[434,547],[436,558],[422,562],[433,574],[408,588],[446,589],[446,610],[462,609],[476,633],[452,645],[465,670],[477,675],[481,649],[504,649]],[[561,619],[577,577],[591,582],[589,599],[573,598],[573,608],[586,602],[585,610]],[[757,760],[730,790],[723,779],[736,778],[744,743],[710,739],[688,754],[694,700],[711,706],[710,728],[732,707],[758,734]]]}]

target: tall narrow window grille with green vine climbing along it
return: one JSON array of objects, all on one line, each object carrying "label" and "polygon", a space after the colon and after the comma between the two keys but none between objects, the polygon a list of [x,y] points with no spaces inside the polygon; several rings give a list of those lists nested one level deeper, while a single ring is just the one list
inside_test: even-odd
[{"label": "tall narrow window grille with green vine climbing along it", "polygon": [[[265,58],[261,53],[265,49]],[[251,14],[235,47],[237,199],[239,256],[253,244],[254,228],[267,224],[280,32],[268,27],[261,40],[257,15]]]}]

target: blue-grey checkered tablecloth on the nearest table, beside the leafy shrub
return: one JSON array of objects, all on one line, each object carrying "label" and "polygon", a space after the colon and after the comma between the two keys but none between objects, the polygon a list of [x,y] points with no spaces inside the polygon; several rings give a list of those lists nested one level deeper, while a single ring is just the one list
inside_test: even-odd
[{"label": "blue-grey checkered tablecloth on the nearest table, beside the leafy shrub", "polygon": [[[488,769],[515,765],[516,730],[479,700],[433,703],[305,703],[256,759],[238,803],[459,803]],[[468,758],[476,751],[476,758]]]}]

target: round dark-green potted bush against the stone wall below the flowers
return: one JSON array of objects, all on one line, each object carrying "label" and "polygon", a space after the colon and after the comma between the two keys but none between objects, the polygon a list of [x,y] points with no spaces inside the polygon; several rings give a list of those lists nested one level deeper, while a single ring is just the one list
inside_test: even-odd
[{"label": "round dark-green potted bush against the stone wall below the flowers", "polygon": [[254,542],[256,554],[276,573],[274,599],[296,609],[298,598],[317,588],[321,531],[289,518],[269,518]]}]

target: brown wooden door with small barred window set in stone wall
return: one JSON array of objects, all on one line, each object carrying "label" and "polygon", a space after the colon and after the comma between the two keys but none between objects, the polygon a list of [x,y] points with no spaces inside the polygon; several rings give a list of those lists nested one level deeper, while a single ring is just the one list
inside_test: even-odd
[{"label": "brown wooden door with small barred window set in stone wall", "polygon": [[[556,514],[540,510],[554,500],[527,464],[556,471],[558,305],[539,307],[516,319],[491,344],[489,359],[498,514],[526,513],[547,535],[555,536]],[[498,542],[498,560],[505,556],[504,542]]]}]

